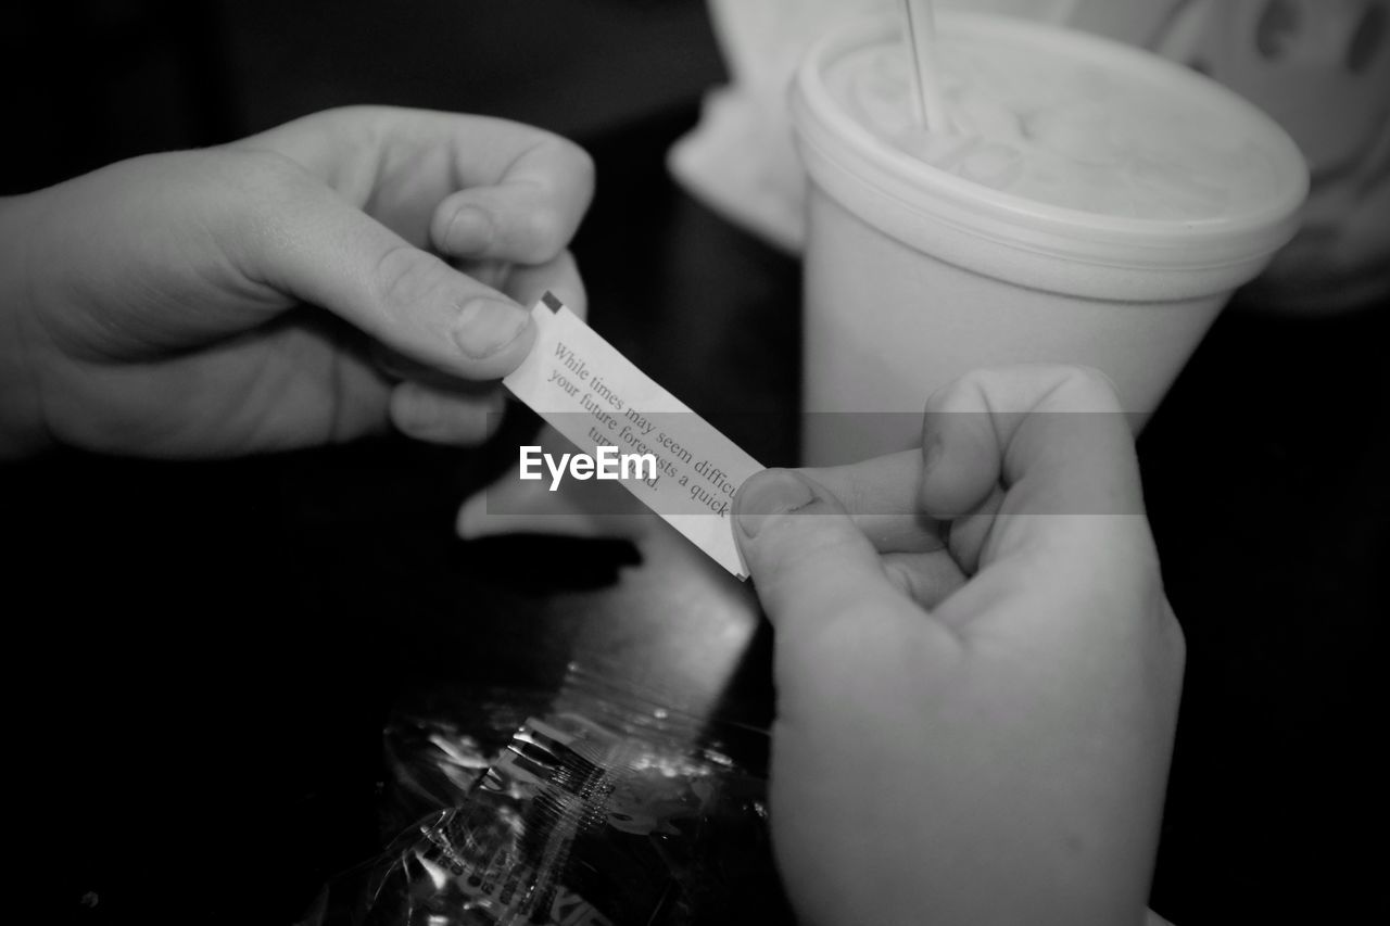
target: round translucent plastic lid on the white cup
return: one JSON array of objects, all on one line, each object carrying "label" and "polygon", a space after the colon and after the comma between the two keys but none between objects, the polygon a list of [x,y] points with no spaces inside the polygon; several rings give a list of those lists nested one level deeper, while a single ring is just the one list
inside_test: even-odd
[{"label": "round translucent plastic lid on the white cup", "polygon": [[[901,58],[901,33],[891,19],[855,24],[808,53],[792,118],[812,179],[869,224],[929,252],[955,235],[1101,267],[1226,274],[1230,285],[1258,273],[1297,231],[1308,192],[1301,153],[1219,83],[1130,46],[1022,19],[944,14],[940,31],[947,68],[951,56],[974,68],[956,81],[955,99],[1009,97],[997,107],[1013,120],[1004,147],[1013,145],[1009,157],[1023,167],[1006,182],[1002,174],[979,179],[967,159],[951,161],[949,140],[940,164],[903,150],[891,101],[862,106],[874,88],[866,96],[853,74]],[[1048,108],[1047,100],[1066,104]],[[973,115],[991,142],[992,113]],[[1104,150],[1087,149],[1086,132]],[[1186,182],[1183,170],[1201,182]],[[997,249],[987,260],[998,263]]]}]

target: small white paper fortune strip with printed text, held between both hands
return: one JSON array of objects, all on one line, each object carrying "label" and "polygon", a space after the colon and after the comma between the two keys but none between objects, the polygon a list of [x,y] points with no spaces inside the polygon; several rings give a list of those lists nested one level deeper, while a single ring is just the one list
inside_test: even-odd
[{"label": "small white paper fortune strip with printed text, held between both hands", "polygon": [[[546,293],[531,353],[502,382],[574,446],[599,457],[651,455],[655,477],[623,487],[739,578],[748,577],[730,503],[762,464]],[[612,457],[613,450],[606,450]],[[543,471],[543,467],[542,467]]]}]

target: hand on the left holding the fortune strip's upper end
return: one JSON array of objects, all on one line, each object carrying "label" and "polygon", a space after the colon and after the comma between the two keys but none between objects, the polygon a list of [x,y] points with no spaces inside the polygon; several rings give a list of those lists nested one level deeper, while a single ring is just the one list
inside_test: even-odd
[{"label": "hand on the left holding the fortune strip's upper end", "polygon": [[539,129],[361,107],[7,200],[4,444],[220,455],[388,420],[481,438],[498,396],[470,381],[534,336],[503,292],[582,306],[566,246],[591,190],[588,156]]}]

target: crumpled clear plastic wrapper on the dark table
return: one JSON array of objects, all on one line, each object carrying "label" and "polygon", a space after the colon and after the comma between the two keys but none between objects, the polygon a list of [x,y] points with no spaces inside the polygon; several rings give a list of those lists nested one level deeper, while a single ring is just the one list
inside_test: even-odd
[{"label": "crumpled clear plastic wrapper on the dark table", "polygon": [[386,730],[381,858],[304,926],[792,922],[767,836],[767,736],[571,667]]}]

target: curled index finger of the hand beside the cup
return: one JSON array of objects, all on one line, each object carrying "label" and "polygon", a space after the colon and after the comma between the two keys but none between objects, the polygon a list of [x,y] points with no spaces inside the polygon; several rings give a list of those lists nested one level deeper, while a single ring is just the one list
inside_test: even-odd
[{"label": "curled index finger of the hand beside the cup", "polygon": [[922,505],[956,517],[969,571],[1020,552],[1116,576],[1154,560],[1134,438],[1099,373],[967,374],[929,400],[923,434]]}]

